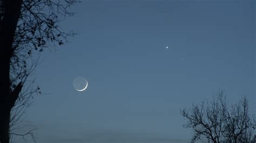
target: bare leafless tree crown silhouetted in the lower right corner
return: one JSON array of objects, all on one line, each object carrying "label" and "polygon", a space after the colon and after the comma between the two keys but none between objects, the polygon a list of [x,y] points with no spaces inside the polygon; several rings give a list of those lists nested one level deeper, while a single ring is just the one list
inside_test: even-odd
[{"label": "bare leafless tree crown silhouetted in the lower right corner", "polygon": [[190,109],[181,110],[187,119],[184,125],[192,128],[192,142],[208,140],[209,142],[255,142],[255,117],[250,117],[248,101],[242,97],[239,103],[228,108],[224,91],[219,91],[209,102],[192,105]]}]

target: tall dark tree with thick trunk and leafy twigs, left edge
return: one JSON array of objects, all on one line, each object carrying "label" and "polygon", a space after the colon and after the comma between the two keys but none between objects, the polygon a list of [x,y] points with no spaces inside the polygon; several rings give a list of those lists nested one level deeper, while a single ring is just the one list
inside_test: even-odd
[{"label": "tall dark tree with thick trunk and leafy twigs, left edge", "polygon": [[17,123],[17,113],[28,106],[31,91],[39,92],[36,88],[21,94],[37,65],[35,55],[46,47],[64,44],[74,34],[59,27],[66,16],[72,16],[69,8],[74,3],[76,0],[0,0],[0,142],[9,142],[10,121]]}]

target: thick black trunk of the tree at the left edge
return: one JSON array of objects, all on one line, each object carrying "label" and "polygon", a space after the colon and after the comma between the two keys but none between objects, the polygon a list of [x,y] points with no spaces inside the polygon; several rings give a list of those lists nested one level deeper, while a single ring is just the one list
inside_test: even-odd
[{"label": "thick black trunk of the tree at the left edge", "polygon": [[[11,108],[21,91],[22,85],[12,92],[10,89],[10,59],[13,54],[12,42],[21,12],[22,0],[4,1],[3,19],[0,23],[0,142],[9,142]],[[20,88],[20,89],[19,89]]]}]

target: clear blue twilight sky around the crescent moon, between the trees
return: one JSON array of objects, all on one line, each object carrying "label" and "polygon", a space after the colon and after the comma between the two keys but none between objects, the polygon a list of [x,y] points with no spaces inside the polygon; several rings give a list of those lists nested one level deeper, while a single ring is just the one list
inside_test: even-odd
[{"label": "clear blue twilight sky around the crescent moon, between the trees", "polygon": [[[255,3],[82,1],[45,51],[26,120],[38,142],[188,142],[179,109],[224,89],[255,113]],[[169,48],[166,49],[166,46]],[[72,82],[83,76],[84,92]]]}]

